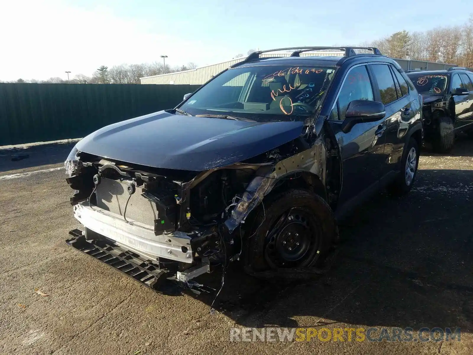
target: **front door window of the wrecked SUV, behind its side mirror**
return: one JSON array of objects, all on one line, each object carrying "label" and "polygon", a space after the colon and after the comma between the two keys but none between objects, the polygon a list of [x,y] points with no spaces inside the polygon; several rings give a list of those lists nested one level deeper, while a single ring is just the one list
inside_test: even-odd
[{"label": "front door window of the wrecked SUV, behind its side mirror", "polygon": [[348,72],[338,95],[338,105],[333,108],[330,119],[336,119],[335,117],[338,115],[339,119],[343,121],[348,104],[353,100],[374,100],[373,88],[364,65],[355,67]]}]

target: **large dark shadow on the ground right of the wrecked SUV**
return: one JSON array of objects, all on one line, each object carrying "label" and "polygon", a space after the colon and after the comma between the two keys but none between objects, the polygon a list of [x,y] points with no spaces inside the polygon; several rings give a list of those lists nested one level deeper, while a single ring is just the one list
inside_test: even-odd
[{"label": "large dark shadow on the ground right of the wrecked SUV", "polygon": [[[232,269],[215,308],[247,327],[335,321],[471,332],[472,181],[473,170],[420,170],[410,195],[379,195],[342,222],[342,243],[325,275],[269,283]],[[208,278],[213,287],[219,277]],[[214,295],[196,297],[211,304]],[[303,324],[303,316],[320,321]]]}]

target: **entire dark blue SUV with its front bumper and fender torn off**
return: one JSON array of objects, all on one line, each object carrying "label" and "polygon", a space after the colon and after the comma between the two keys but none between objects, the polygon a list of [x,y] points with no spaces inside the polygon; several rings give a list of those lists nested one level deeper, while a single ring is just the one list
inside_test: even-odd
[{"label": "entire dark blue SUV with its front bumper and fender torn off", "polygon": [[[106,126],[65,162],[68,244],[153,289],[239,260],[250,275],[314,270],[336,220],[378,190],[407,193],[419,95],[381,55],[255,52],[176,108]],[[284,48],[283,50],[288,50]]]}]

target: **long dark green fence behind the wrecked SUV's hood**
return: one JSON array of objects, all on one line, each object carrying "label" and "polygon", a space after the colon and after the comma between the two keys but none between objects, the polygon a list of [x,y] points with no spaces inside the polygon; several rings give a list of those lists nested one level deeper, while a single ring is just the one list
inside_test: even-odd
[{"label": "long dark green fence behind the wrecked SUV's hood", "polygon": [[0,83],[0,146],[85,137],[173,108],[199,86]]}]

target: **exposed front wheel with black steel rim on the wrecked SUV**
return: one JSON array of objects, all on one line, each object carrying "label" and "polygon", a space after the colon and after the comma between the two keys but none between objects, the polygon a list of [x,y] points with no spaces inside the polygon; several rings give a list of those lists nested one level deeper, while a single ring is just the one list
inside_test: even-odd
[{"label": "exposed front wheel with black steel rim on the wrecked SUV", "polygon": [[330,206],[301,189],[269,195],[254,212],[245,231],[245,268],[256,272],[322,265],[338,241]]}]

